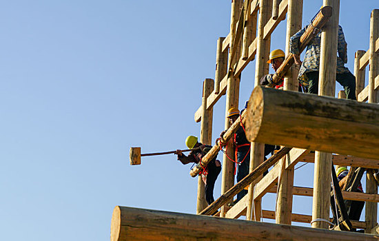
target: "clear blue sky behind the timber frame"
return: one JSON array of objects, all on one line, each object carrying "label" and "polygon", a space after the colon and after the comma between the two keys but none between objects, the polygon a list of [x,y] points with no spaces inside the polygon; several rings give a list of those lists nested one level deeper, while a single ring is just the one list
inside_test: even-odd
[{"label": "clear blue sky behind the timber frame", "polygon": [[[303,26],[321,5],[304,1]],[[351,72],[378,7],[341,1]],[[185,138],[199,135],[194,112],[229,21],[230,1],[220,0],[3,2],[0,239],[107,240],[116,205],[195,213],[189,165],[166,155],[132,167],[129,149],[186,149]],[[285,48],[285,21],[276,48]],[[254,69],[255,61],[243,72],[240,107]],[[214,107],[213,139],[224,114],[225,97]],[[312,182],[313,165],[296,171],[295,185]],[[220,190],[221,177],[215,198]],[[274,210],[274,200],[263,207]],[[310,215],[311,198],[294,198],[294,212]]]}]

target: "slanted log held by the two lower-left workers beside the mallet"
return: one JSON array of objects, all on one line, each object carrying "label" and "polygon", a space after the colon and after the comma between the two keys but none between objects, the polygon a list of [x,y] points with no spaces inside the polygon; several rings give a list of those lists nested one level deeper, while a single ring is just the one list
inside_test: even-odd
[{"label": "slanted log held by the two lower-left workers beside the mallet", "polygon": [[[241,114],[241,118],[243,121],[243,124],[245,125],[245,118],[246,118],[246,111]],[[236,133],[237,129],[240,127],[240,120],[241,118],[238,118],[237,121],[233,123],[229,129],[227,129],[227,132],[225,132],[223,139],[225,140],[225,143],[227,143],[227,140],[233,136],[234,133]],[[201,163],[198,163],[192,170],[189,172],[189,174],[194,178],[198,175],[198,173],[208,165],[208,163],[218,154],[218,151],[220,151],[220,146],[218,143],[210,149],[210,151],[201,159]]]}]

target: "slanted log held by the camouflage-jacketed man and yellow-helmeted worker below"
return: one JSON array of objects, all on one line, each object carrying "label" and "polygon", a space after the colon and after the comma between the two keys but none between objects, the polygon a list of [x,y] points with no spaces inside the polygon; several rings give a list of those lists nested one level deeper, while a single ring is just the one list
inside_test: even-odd
[{"label": "slanted log held by the camouflage-jacketed man and yellow-helmeted worker below", "polygon": [[[329,20],[331,17],[331,7],[326,6],[318,12],[316,17],[314,18],[314,21],[309,24],[307,30],[305,30],[304,34],[301,36],[299,41],[299,50],[300,53],[305,50],[305,47],[307,47],[308,43],[320,32],[320,28],[322,28],[325,23]],[[285,58],[285,61],[280,65],[274,76],[272,76],[272,81],[274,83],[278,83],[282,80],[283,76],[289,68],[294,64],[294,54],[289,54]]]}]

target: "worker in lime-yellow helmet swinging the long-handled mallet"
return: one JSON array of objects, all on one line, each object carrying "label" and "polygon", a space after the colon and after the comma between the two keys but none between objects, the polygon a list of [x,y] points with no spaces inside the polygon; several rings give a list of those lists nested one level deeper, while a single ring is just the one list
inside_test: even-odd
[{"label": "worker in lime-yellow helmet swinging the long-handled mallet", "polygon": [[[189,149],[196,147],[199,147],[199,149],[190,151],[188,156],[185,156],[181,150],[176,150],[178,160],[180,160],[184,165],[188,163],[199,163],[201,158],[203,158],[203,156],[205,156],[205,154],[212,149],[211,145],[203,145],[202,143],[199,143],[196,136],[188,136],[187,139],[185,139],[185,145],[187,145]],[[221,171],[221,163],[219,160],[216,160],[216,157],[217,156],[215,156],[210,163],[208,163],[207,167],[205,167],[205,171],[201,174],[203,182],[205,183],[205,200],[207,200],[208,205],[214,202],[214,183],[216,182],[217,176]]]}]

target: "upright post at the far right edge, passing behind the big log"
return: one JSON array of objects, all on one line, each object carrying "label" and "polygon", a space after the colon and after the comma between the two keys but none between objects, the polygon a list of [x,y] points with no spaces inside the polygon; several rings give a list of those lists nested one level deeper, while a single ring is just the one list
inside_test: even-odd
[{"label": "upright post at the far right edge, passing behind the big log", "polygon": [[[379,10],[374,9],[371,12],[370,21],[370,69],[369,69],[369,103],[378,102],[378,91],[374,90],[375,87],[375,77],[379,74],[379,61],[378,53],[375,52],[376,39],[379,37]],[[378,193],[378,186],[376,185],[376,180],[373,178],[371,171],[367,170],[366,176],[366,193]],[[365,208],[365,221],[367,223],[366,233],[370,233],[371,229],[376,226],[378,204],[376,202],[366,202]]]}]

